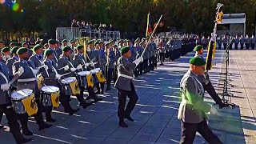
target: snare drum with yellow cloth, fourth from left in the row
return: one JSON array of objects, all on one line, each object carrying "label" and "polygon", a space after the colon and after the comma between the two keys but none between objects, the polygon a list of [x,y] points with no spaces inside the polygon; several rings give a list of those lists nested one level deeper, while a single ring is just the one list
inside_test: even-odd
[{"label": "snare drum with yellow cloth, fourth from left in the row", "polygon": [[90,71],[79,72],[78,78],[79,78],[80,86],[90,86],[90,87],[94,86],[92,74],[90,74]]}]

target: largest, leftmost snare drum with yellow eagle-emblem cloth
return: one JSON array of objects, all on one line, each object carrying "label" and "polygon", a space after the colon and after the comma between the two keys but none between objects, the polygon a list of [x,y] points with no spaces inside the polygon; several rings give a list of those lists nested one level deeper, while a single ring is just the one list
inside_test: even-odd
[{"label": "largest, leftmost snare drum with yellow eagle-emblem cloth", "polygon": [[13,92],[11,102],[17,114],[29,114],[30,116],[38,112],[38,105],[35,102],[33,90],[25,89]]}]

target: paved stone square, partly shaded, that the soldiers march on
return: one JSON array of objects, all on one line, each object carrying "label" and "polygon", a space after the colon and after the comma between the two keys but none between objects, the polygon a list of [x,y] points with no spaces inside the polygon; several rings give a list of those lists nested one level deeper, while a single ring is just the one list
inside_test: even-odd
[{"label": "paved stone square, partly shaded, that the soldiers march on", "polygon": [[[216,53],[216,66],[214,70],[210,72],[211,81],[214,86],[219,87],[218,92],[222,92],[219,73],[222,71],[222,58],[223,51],[217,51]],[[242,58],[234,59],[234,55],[247,54]],[[230,78],[234,79],[232,83],[234,85],[232,91],[238,91],[234,94],[233,102],[240,106],[237,109],[230,109],[230,113],[238,110],[237,119],[242,123],[236,125],[231,123],[231,126],[242,130],[243,134],[246,134],[246,142],[255,143],[255,117],[256,102],[253,95],[254,87],[256,86],[253,80],[256,76],[256,66],[253,64],[253,56],[248,55],[244,51],[232,51],[231,52],[231,73],[234,73]],[[118,98],[116,96],[116,90],[111,90],[110,93],[102,95],[104,100],[98,102],[93,106],[88,107],[86,110],[80,110],[78,114],[69,116],[62,113],[62,107],[58,110],[54,110],[54,118],[58,122],[54,123],[54,126],[48,130],[38,131],[38,126],[34,122],[34,119],[30,119],[29,127],[34,132],[34,140],[30,143],[178,143],[180,138],[180,122],[177,119],[178,106],[180,102],[179,96],[179,82],[182,75],[188,70],[188,61],[194,54],[186,54],[186,56],[179,58],[174,62],[166,62],[165,66],[158,66],[158,70],[151,71],[148,74],[136,78],[135,86],[138,93],[138,104],[134,109],[132,117],[135,122],[127,122],[129,128],[118,127],[117,107]],[[252,58],[252,59],[247,59]],[[249,60],[249,62],[248,62]],[[242,62],[246,62],[247,66]],[[256,65],[256,63],[254,63]],[[249,69],[249,70],[248,70]],[[241,76],[239,75],[241,74]],[[244,88],[244,86],[246,88]],[[240,92],[239,92],[240,91]],[[206,100],[212,102],[210,98],[206,97]],[[73,105],[78,104],[77,100],[72,100]],[[240,112],[242,114],[242,121],[240,118]],[[210,126],[214,126],[216,123],[216,117],[210,116]],[[6,118],[3,118],[2,124],[6,125]],[[217,119],[218,120],[218,119]],[[224,122],[222,122],[224,124]],[[218,127],[218,126],[217,126]],[[214,127],[218,132],[218,128]],[[8,128],[0,130],[0,142],[1,143],[14,143]],[[221,138],[223,134],[227,134],[226,131],[218,133]],[[239,135],[241,137],[241,135]],[[225,135],[226,136],[226,135]],[[239,137],[239,138],[240,138]],[[222,138],[225,143],[238,142],[230,138]],[[240,138],[241,139],[241,138]],[[243,139],[242,139],[243,140]],[[244,142],[244,141],[243,141]],[[194,143],[205,143],[200,135],[197,135]]]}]

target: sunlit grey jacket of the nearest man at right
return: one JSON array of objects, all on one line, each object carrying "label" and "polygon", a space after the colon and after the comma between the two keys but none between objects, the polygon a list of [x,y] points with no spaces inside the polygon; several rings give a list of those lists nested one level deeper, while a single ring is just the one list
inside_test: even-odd
[{"label": "sunlit grey jacket of the nearest man at right", "polygon": [[178,119],[182,122],[202,122],[206,112],[210,111],[210,105],[203,102],[204,89],[198,76],[191,70],[184,74],[180,83],[182,102],[178,109]]}]

